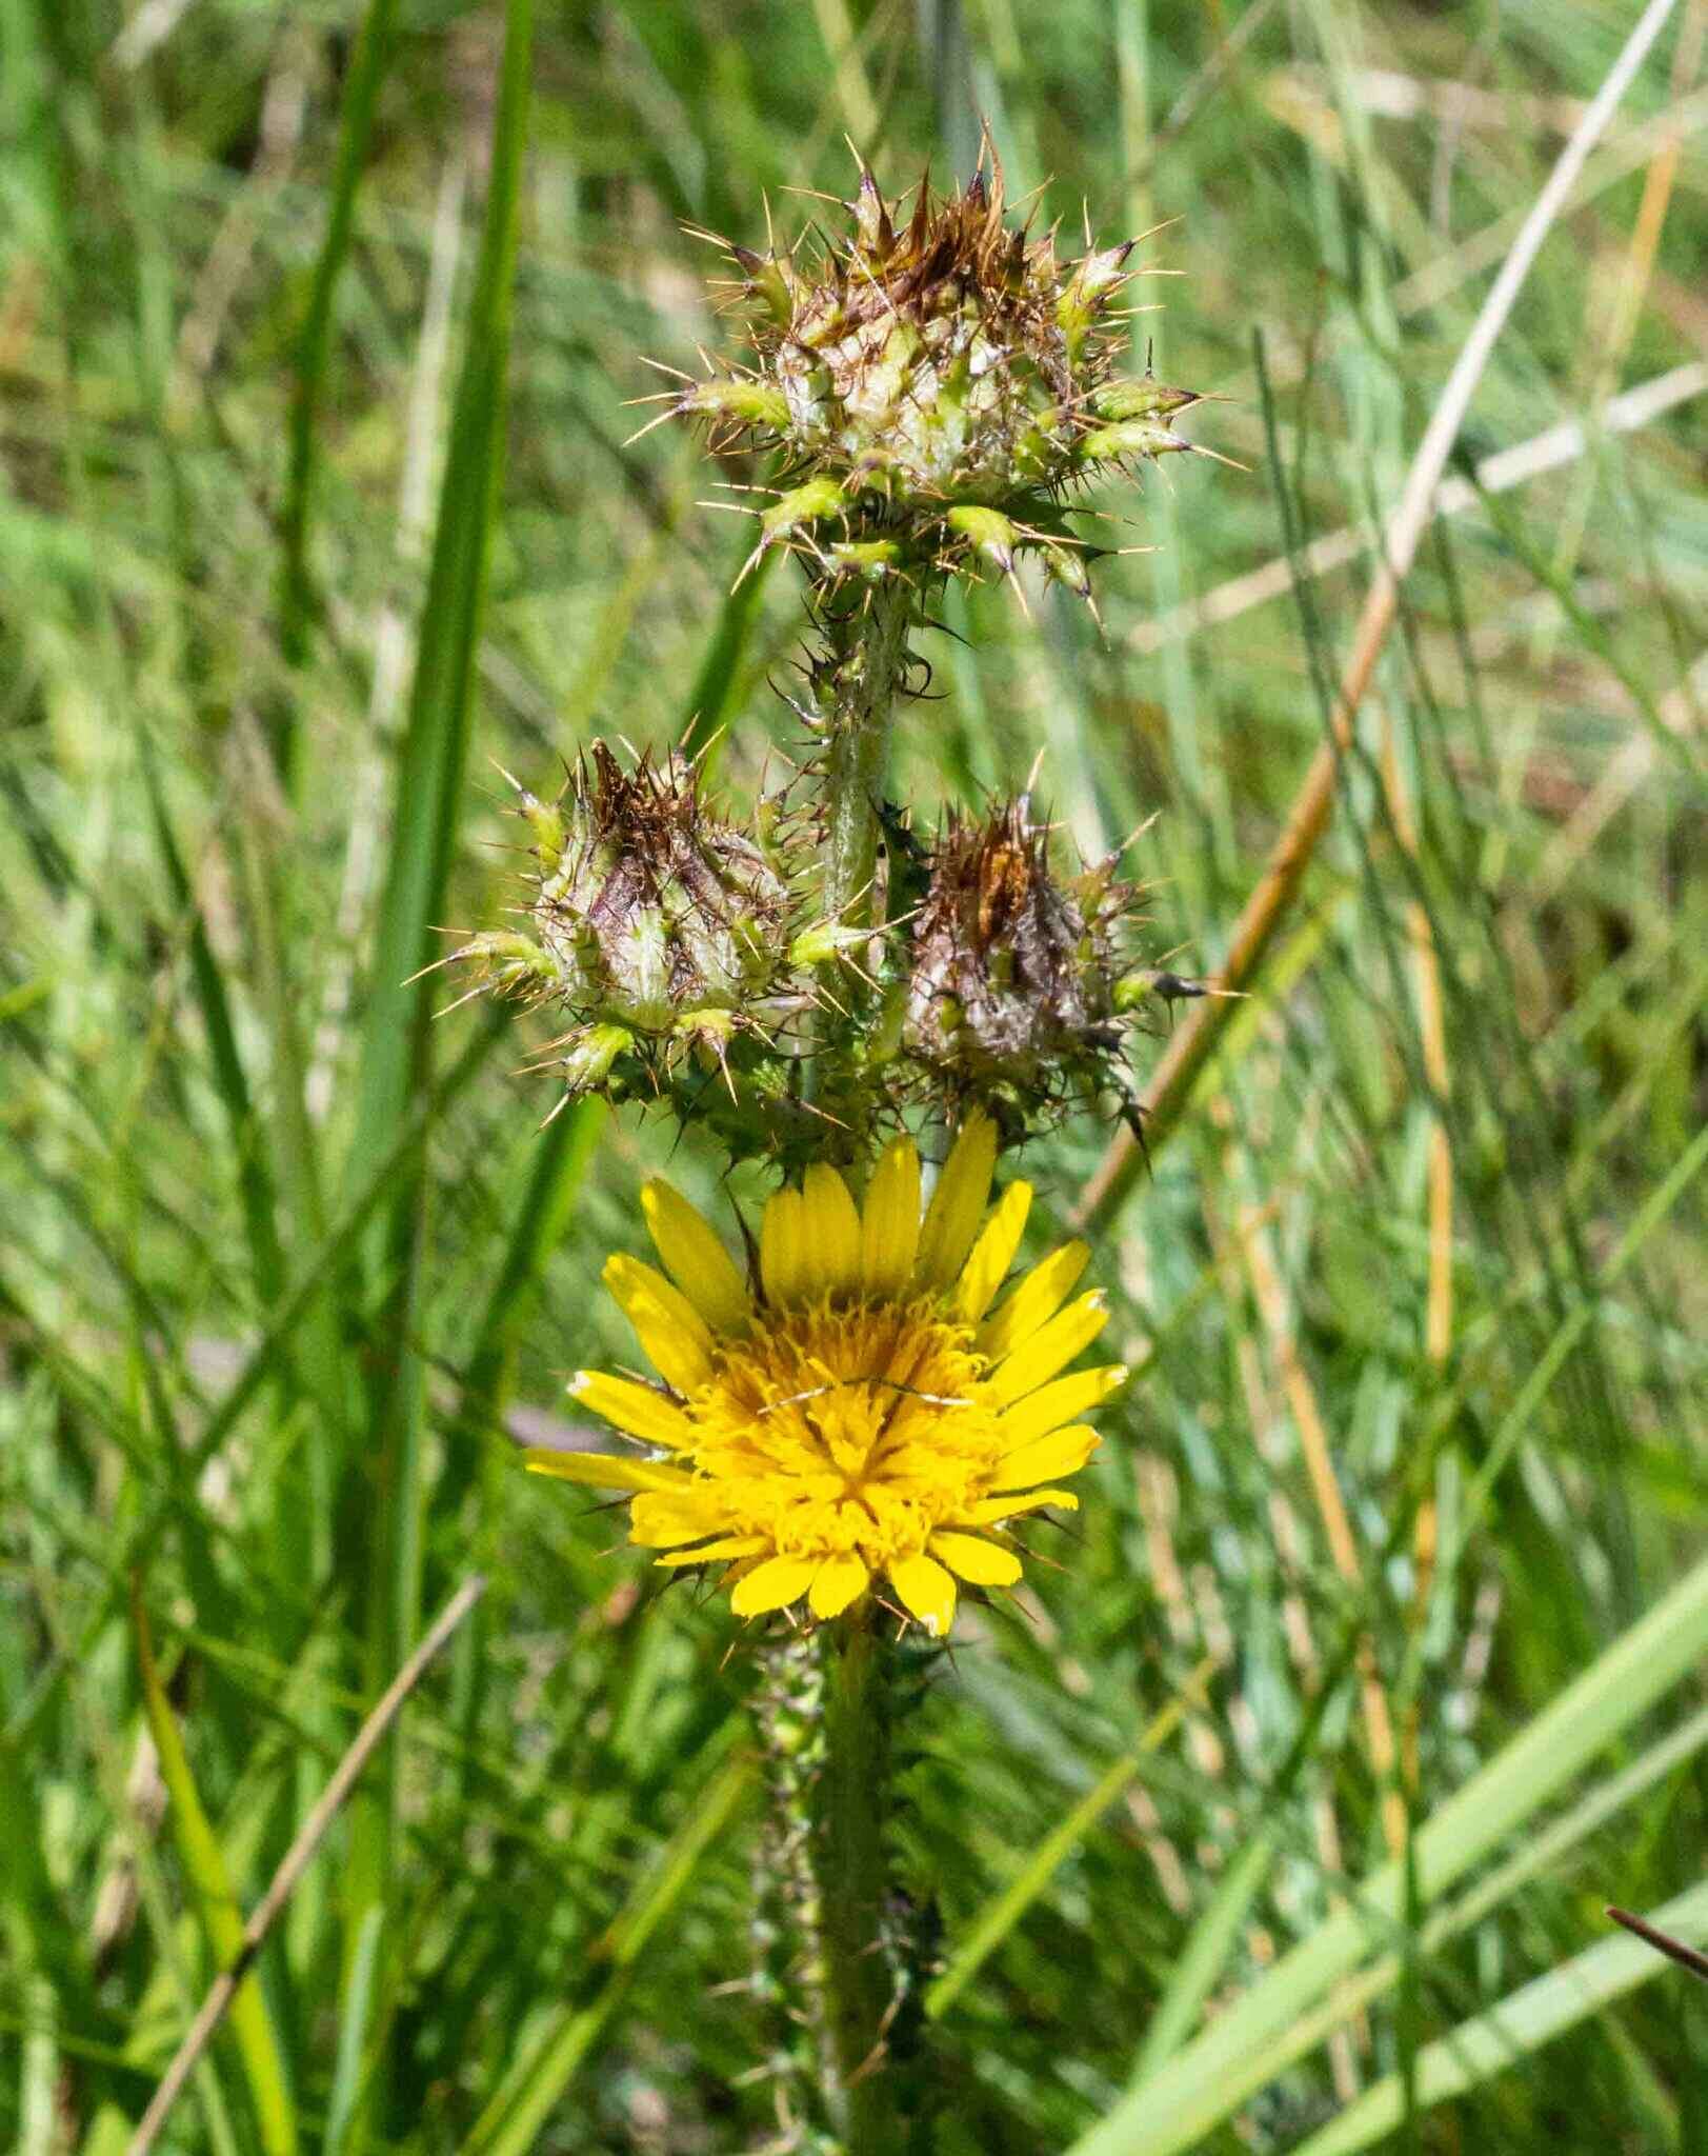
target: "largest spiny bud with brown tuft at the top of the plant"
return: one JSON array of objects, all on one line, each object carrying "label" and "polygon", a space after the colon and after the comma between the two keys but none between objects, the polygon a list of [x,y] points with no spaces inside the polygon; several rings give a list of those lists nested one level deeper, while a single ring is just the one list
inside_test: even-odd
[{"label": "largest spiny bud with brown tuft at the top of the plant", "polygon": [[921,181],[910,218],[865,168],[845,207],[852,229],[811,252],[729,248],[753,364],[669,397],[714,448],[776,451],[753,558],[785,545],[822,582],[876,582],[1009,576],[1033,550],[1089,595],[1063,496],[1104,466],[1190,451],[1171,420],[1199,401],[1115,377],[1134,241],[1063,261],[1055,233],[1009,231],[988,140],[968,185]]}]

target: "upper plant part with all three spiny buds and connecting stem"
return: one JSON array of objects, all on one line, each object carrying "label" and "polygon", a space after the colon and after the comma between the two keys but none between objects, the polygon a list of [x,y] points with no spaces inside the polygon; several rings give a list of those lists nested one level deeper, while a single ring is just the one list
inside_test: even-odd
[{"label": "upper plant part with all three spiny buds and connecting stem", "polygon": [[750,364],[684,377],[662,414],[774,455],[757,554],[809,576],[813,815],[770,798],[742,824],[686,759],[625,770],[595,746],[552,806],[522,793],[524,921],[457,953],[567,1020],[565,1097],[660,1100],[785,1175],[858,1164],[921,1104],[981,1108],[1009,1143],[1072,1108],[1137,1121],[1130,1035],[1173,981],[1134,964],[1117,856],[1057,873],[1029,796],[929,845],[882,802],[936,580],[1033,554],[1089,595],[1076,489],[1193,448],[1171,425],[1193,392],[1117,375],[1132,244],[1065,259],[1011,231],[990,144],[908,216],[860,168],[848,211],[841,237],[729,250]]}]

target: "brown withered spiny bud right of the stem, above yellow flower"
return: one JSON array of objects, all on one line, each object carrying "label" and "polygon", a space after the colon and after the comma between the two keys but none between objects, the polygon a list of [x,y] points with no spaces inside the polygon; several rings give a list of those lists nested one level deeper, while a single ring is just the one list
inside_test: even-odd
[{"label": "brown withered spiny bud right of the stem, above yellow flower", "polygon": [[1115,854],[1057,877],[1048,841],[1029,796],[977,824],[951,815],[912,929],[904,1050],[1011,1136],[1106,1089],[1132,1102],[1124,1037],[1143,998],[1119,946],[1139,893]]}]

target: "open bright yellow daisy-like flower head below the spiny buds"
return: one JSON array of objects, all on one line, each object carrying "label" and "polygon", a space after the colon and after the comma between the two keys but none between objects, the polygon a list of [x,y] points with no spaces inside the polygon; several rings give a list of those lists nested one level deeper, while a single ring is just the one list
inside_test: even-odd
[{"label": "open bright yellow daisy-like flower head below the spiny buds", "polygon": [[766,1205],[753,1285],[686,1199],[647,1184],[664,1272],[612,1257],[604,1279],[664,1382],[578,1371],[569,1391],[651,1457],[531,1451],[528,1466],[632,1490],[630,1539],[660,1565],[727,1565],[740,1617],[802,1600],[835,1617],[878,1580],[947,1634],[955,1580],[1020,1578],[1011,1520],[1078,1505],[1050,1483],[1091,1457],[1078,1416],[1126,1378],[1061,1376],[1108,1317],[1102,1294],[1072,1294],[1083,1242],[996,1302],[1031,1188],[1009,1184],[986,1218],[994,1162],[973,1117],[923,1218],[912,1138],[882,1156],[865,1207],[811,1166]]}]

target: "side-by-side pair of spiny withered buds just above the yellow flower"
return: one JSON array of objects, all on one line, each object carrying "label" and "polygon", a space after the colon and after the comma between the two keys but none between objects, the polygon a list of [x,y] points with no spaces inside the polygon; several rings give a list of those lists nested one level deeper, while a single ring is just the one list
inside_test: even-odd
[{"label": "side-by-side pair of spiny withered buds just above the yellow flower", "polygon": [[[1128,1035],[1158,983],[1130,949],[1141,893],[1117,854],[1057,875],[1029,796],[951,813],[932,845],[891,813],[891,901],[917,903],[850,929],[802,895],[811,832],[774,800],[757,832],[722,819],[681,755],[623,770],[595,744],[556,802],[518,793],[526,925],[453,959],[567,1020],[539,1065],[565,1100],[662,1100],[785,1166],[919,1100],[977,1104],[1016,1143],[1074,1106],[1130,1108]],[[837,992],[856,949],[880,992],[865,1020]]]}]

